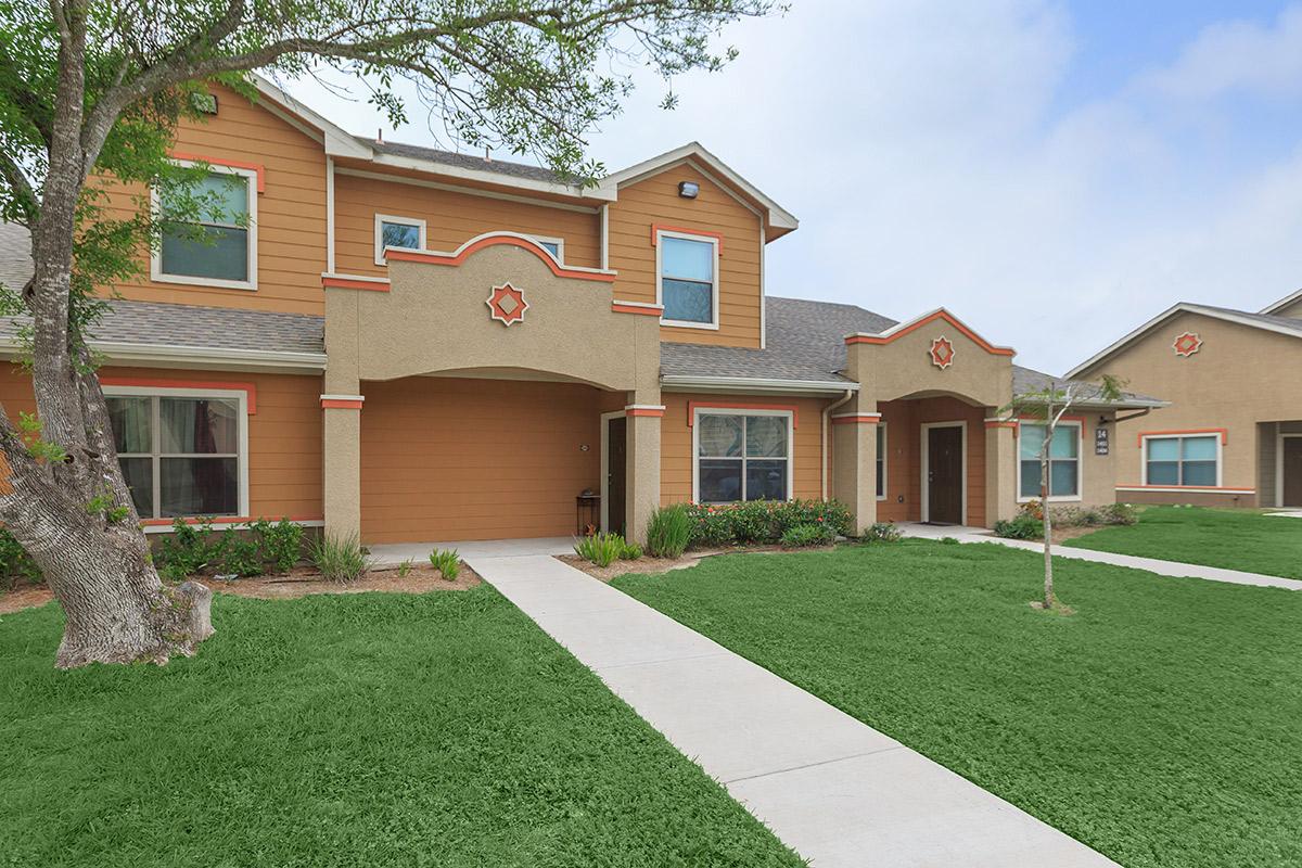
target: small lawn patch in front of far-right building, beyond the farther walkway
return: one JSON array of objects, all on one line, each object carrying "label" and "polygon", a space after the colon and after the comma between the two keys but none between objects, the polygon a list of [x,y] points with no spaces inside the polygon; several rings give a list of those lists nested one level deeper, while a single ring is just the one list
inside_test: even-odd
[{"label": "small lawn patch in front of far-right building, beyond the farther walkway", "polygon": [[1065,545],[1302,579],[1302,518],[1197,506],[1150,506],[1130,527],[1105,527]]}]

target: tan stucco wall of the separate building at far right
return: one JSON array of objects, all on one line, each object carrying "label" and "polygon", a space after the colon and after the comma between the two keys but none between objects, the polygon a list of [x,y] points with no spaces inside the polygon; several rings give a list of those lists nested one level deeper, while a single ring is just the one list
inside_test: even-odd
[{"label": "tan stucco wall of the separate building at far right", "polygon": [[[1172,344],[1185,332],[1203,340],[1198,353],[1176,355]],[[1122,423],[1115,435],[1117,484],[1143,480],[1138,436],[1146,431],[1225,428],[1221,485],[1255,493],[1198,495],[1186,492],[1118,492],[1133,502],[1216,502],[1253,506],[1273,502],[1273,492],[1256,492],[1258,423],[1302,419],[1302,340],[1226,323],[1199,314],[1180,314],[1138,338],[1082,376],[1112,373],[1131,390],[1172,406],[1143,419]]]}]

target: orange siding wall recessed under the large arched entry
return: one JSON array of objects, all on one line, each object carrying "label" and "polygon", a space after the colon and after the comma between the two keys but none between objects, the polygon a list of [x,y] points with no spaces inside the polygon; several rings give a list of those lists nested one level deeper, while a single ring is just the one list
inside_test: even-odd
[{"label": "orange siding wall recessed under the large arched entry", "polygon": [[566,536],[574,497],[599,489],[608,393],[449,377],[365,383],[362,392],[367,543]]}]

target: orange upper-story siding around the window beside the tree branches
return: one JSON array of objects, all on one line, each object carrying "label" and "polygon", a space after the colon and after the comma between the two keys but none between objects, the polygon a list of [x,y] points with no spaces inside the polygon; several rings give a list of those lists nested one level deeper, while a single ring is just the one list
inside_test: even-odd
[{"label": "orange upper-story siding around the window beside the tree branches", "polygon": [[[323,147],[263,108],[224,87],[214,87],[217,115],[207,122],[184,121],[174,151],[212,160],[264,167],[266,191],[258,194],[258,289],[216,289],[148,280],[116,289],[124,298],[211,307],[320,314],[326,307],[320,275],[326,271],[326,152]],[[111,211],[134,212],[143,186],[112,185]]]}]

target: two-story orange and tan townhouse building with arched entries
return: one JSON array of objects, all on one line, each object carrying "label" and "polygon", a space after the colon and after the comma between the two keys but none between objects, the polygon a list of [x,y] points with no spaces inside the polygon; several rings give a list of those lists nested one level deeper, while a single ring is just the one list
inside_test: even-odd
[{"label": "two-story orange and tan townhouse building with arched entries", "polygon": [[[210,164],[249,220],[164,238],[94,341],[154,530],[551,536],[583,523],[586,491],[592,523],[631,536],[661,504],[760,497],[837,497],[861,527],[991,524],[1038,492],[1018,452],[1036,429],[1017,437],[1001,409],[1043,375],[944,310],[901,324],[767,295],[768,245],[797,221],[699,144],[579,187],[352,137],[266,83],[256,105],[216,95],[174,156]],[[0,278],[26,280],[27,246],[4,230]],[[13,367],[17,414],[33,401]],[[1160,403],[1083,403],[1055,500],[1111,502],[1115,414]]]}]

